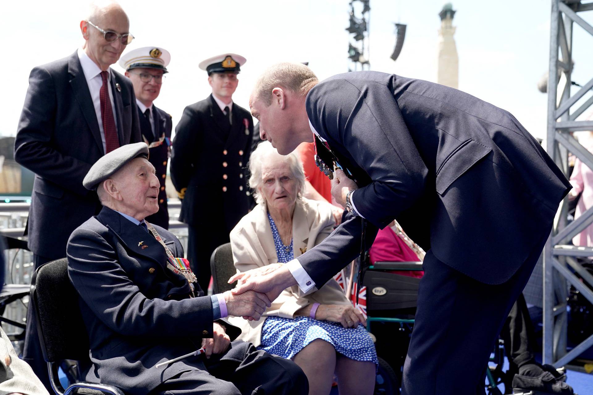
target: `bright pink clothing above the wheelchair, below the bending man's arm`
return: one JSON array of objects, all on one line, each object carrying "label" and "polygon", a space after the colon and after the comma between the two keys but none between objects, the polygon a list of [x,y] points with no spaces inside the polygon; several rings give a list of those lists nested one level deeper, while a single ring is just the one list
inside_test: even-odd
[{"label": "bright pink clothing above the wheelchair, below the bending man's arm", "polygon": [[[412,249],[410,249],[404,240],[401,240],[396,232],[393,232],[393,229],[389,226],[379,230],[375,242],[372,243],[371,249],[369,250],[369,256],[371,258],[371,264],[374,264],[375,262],[420,261]],[[419,270],[397,270],[393,271],[393,273],[416,278],[420,278],[424,275],[424,272]]]}]

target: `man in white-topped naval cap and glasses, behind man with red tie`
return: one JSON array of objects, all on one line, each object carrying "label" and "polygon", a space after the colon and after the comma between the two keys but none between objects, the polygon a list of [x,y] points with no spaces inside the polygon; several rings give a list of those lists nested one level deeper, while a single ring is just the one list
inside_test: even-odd
[{"label": "man in white-topped naval cap and glasses, behind man with red tie", "polygon": [[142,47],[126,52],[119,60],[119,65],[126,70],[126,77],[132,81],[142,140],[148,144],[149,162],[157,171],[160,187],[158,190],[158,211],[146,218],[149,223],[169,229],[167,210],[167,192],[165,178],[167,163],[171,151],[171,115],[157,108],[152,102],[161,92],[161,85],[168,73],[167,65],[171,54],[161,47]]}]

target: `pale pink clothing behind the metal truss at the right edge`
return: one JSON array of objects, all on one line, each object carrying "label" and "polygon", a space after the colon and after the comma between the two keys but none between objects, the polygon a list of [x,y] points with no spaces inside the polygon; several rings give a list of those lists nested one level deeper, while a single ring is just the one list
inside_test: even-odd
[{"label": "pale pink clothing behind the metal truss at the right edge", "polygon": [[[593,138],[591,136],[581,137],[579,143],[589,150],[589,152],[593,152]],[[574,188],[570,191],[570,194],[579,194],[582,192],[576,204],[575,219],[577,219],[593,205],[593,171],[578,158],[575,159],[575,168],[570,175],[570,185]],[[573,237],[572,243],[575,246],[593,247],[593,224]]]}]

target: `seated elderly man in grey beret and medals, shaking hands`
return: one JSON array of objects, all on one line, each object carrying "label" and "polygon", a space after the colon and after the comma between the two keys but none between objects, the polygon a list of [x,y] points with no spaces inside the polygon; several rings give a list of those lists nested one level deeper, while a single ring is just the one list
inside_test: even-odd
[{"label": "seated elderly man in grey beret and medals, shaking hands", "polygon": [[[294,362],[259,351],[224,317],[259,317],[258,293],[204,296],[177,237],[146,221],[159,182],[148,146],[122,146],[84,178],[101,212],[68,241],[68,273],[81,297],[93,367],[86,379],[126,394],[305,394]],[[158,366],[205,348],[205,355]]]}]

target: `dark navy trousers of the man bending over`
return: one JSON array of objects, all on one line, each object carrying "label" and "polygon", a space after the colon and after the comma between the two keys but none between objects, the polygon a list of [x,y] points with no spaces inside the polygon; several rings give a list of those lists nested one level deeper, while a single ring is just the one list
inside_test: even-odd
[{"label": "dark navy trousers of the man bending over", "polygon": [[403,395],[484,394],[490,353],[546,239],[510,280],[498,285],[476,281],[436,259],[432,251],[426,253]]}]

